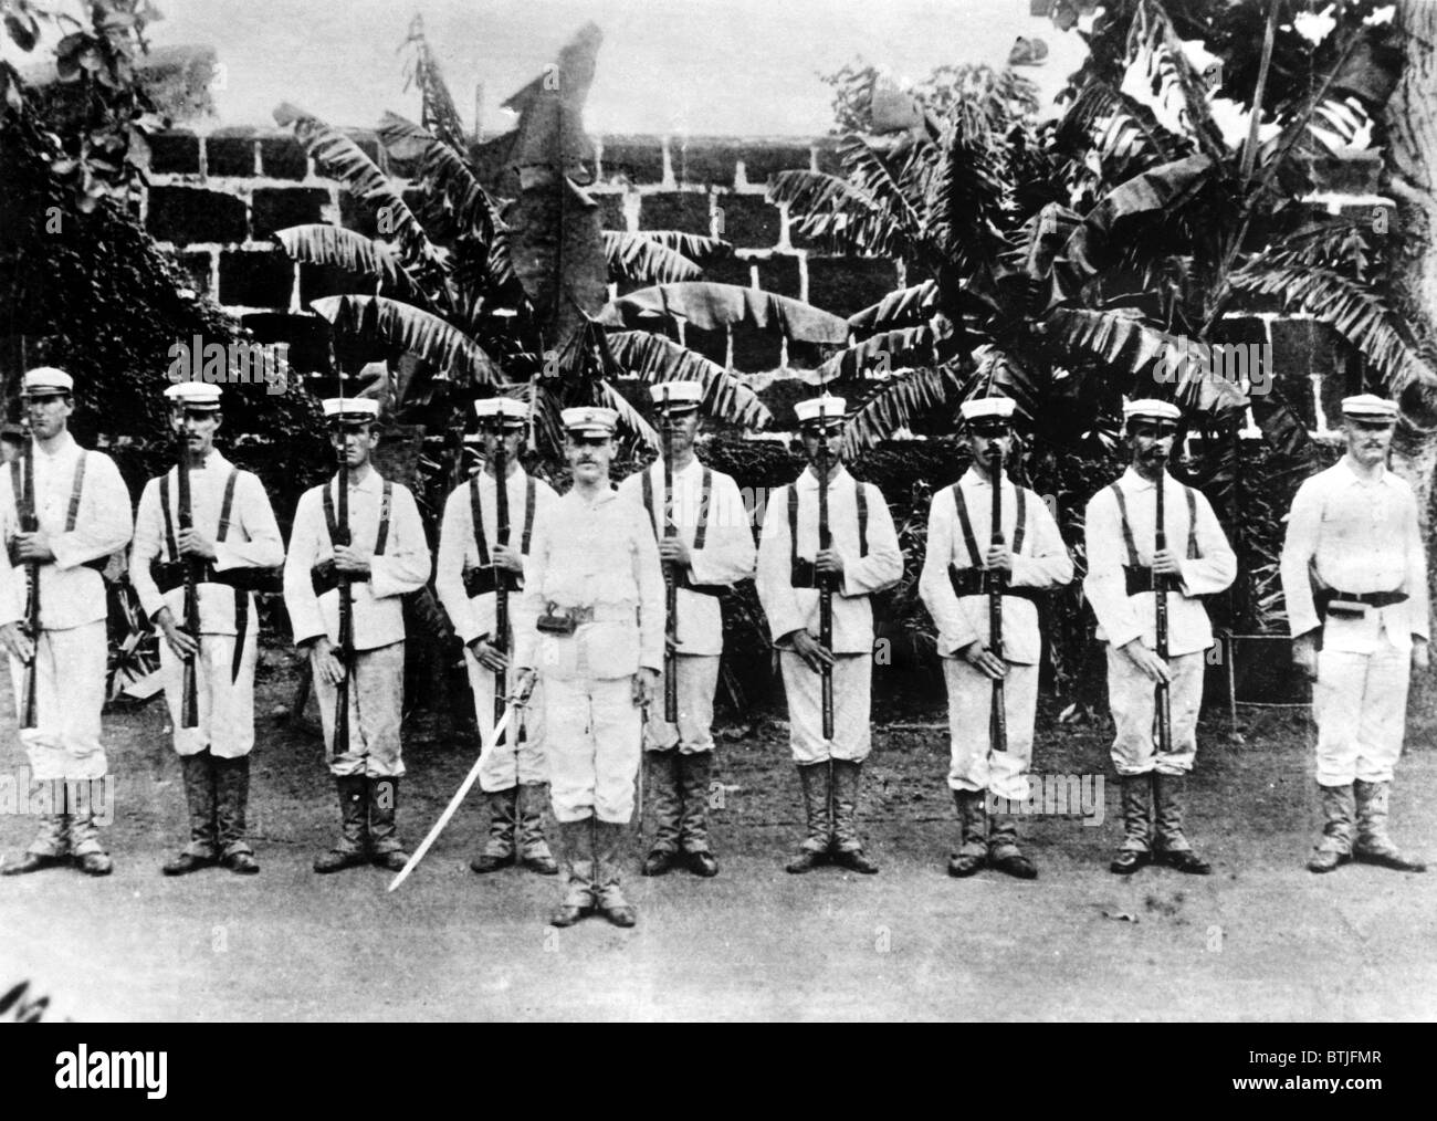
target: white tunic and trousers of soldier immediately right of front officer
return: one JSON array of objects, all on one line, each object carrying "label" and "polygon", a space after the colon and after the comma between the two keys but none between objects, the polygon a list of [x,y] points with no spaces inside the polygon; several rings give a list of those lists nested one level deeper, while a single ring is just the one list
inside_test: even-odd
[{"label": "white tunic and trousers of soldier immediately right of front officer", "polygon": [[[704,494],[704,476],[708,493]],[[631,474],[619,484],[628,499],[644,500],[644,480],[648,479],[650,520],[655,536],[664,535],[664,463]],[[723,471],[706,469],[697,457],[674,471],[673,520],[678,539],[688,546],[691,585],[731,586],[753,576],[756,550],[749,512],[739,494],[739,486]],[[700,545],[700,526],[703,526]],[[717,595],[704,595],[680,586],[675,592],[678,651],[675,675],[678,683],[678,723],[664,720],[664,706],[650,706],[644,729],[650,750],[678,747],[684,755],[711,752],[714,688],[718,684],[718,660],[723,654],[723,611]],[[664,681],[660,680],[662,698]]]}]

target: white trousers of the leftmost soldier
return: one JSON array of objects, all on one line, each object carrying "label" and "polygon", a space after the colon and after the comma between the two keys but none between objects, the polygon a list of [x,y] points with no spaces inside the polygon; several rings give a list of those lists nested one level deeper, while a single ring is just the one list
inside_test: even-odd
[{"label": "white trousers of the leftmost soldier", "polygon": [[[36,782],[102,779],[109,770],[99,733],[105,707],[105,621],[65,631],[40,631],[34,650],[34,719],[20,743]],[[10,683],[19,719],[24,664],[10,658]]]}]

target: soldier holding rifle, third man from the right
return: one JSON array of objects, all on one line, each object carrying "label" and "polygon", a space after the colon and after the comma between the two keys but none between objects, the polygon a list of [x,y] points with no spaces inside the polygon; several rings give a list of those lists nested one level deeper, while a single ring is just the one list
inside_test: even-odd
[{"label": "soldier holding rifle, third man from the right", "polygon": [[[1033,762],[1038,711],[1040,594],[1073,578],[1072,558],[1052,515],[1027,487],[1002,479],[1002,535],[992,538],[994,453],[1012,448],[1013,401],[987,397],[963,404],[973,464],[933,496],[928,548],[918,594],[938,629],[951,729],[948,788],[958,809],[961,846],[948,875],[977,872],[984,862],[1020,880],[1038,875],[1017,846],[1012,813],[994,813],[987,798],[1023,802]],[[980,545],[980,542],[983,545]],[[981,552],[980,552],[981,549]],[[989,632],[989,581],[1003,581],[1002,658]],[[993,742],[993,683],[1003,681],[1006,742]]]}]

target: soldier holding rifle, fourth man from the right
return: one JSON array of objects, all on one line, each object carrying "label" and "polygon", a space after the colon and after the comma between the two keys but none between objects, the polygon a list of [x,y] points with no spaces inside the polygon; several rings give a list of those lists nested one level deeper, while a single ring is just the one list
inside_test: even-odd
[{"label": "soldier holding rifle, fourth man from the right", "polygon": [[[841,397],[795,407],[809,467],[769,502],[759,540],[759,599],[779,648],[808,835],[786,865],[806,872],[829,855],[878,871],[858,835],[859,779],[872,746],[874,611],[869,596],[902,578],[902,552],[882,493],[856,481],[841,457]],[[828,466],[829,548],[819,545],[819,464]],[[821,638],[821,583],[832,586],[833,644]],[[822,675],[833,681],[833,736],[823,736]]]}]

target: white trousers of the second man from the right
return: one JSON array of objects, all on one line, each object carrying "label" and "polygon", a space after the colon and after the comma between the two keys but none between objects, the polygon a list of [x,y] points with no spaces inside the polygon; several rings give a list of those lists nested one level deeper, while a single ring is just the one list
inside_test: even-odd
[{"label": "white trousers of the second man from the right", "polygon": [[1157,750],[1157,698],[1150,678],[1127,654],[1108,645],[1108,707],[1117,736],[1112,740],[1112,765],[1119,775],[1187,775],[1197,757],[1197,713],[1203,706],[1203,664],[1206,651],[1168,658],[1173,681],[1168,686],[1168,710],[1173,714],[1173,750]]}]

